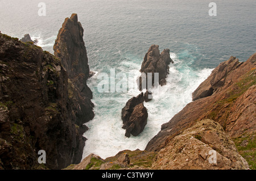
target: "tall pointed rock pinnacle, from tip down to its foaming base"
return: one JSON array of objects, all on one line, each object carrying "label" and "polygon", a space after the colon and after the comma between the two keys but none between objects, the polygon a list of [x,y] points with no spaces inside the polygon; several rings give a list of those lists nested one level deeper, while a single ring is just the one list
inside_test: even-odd
[{"label": "tall pointed rock pinnacle, from tip down to its foaming base", "polygon": [[[90,101],[92,91],[86,85],[89,78],[89,65],[83,36],[84,29],[78,22],[77,14],[72,14],[71,18],[65,19],[53,46],[55,56],[67,70],[71,88],[69,91],[79,102],[80,109],[76,114],[81,123],[92,120],[94,117],[93,103]],[[80,93],[73,95],[73,90]]]}]

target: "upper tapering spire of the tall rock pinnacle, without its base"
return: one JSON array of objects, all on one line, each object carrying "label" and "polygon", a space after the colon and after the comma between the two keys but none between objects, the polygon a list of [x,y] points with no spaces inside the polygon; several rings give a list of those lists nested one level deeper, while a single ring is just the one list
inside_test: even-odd
[{"label": "upper tapering spire of the tall rock pinnacle, without its base", "polygon": [[83,36],[84,29],[78,22],[77,14],[72,14],[71,18],[65,19],[60,28],[53,50],[72,82],[85,93],[85,96],[92,98],[92,92],[86,86],[89,65]]}]

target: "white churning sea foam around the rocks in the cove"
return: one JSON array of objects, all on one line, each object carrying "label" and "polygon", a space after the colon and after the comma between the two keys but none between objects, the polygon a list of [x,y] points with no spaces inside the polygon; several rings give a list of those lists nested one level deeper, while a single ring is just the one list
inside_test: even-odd
[{"label": "white churning sea foam around the rocks in the cove", "polygon": [[[85,142],[83,158],[90,153],[106,158],[125,149],[145,149],[148,141],[160,131],[161,125],[167,123],[186,104],[192,101],[192,92],[208,77],[212,69],[195,71],[183,64],[182,60],[178,60],[175,53],[171,53],[171,58],[175,63],[170,65],[167,85],[160,86],[159,90],[152,89],[153,99],[151,102],[144,102],[144,106],[148,110],[148,120],[144,131],[137,137],[127,138],[124,136],[121,110],[127,100],[132,96],[137,96],[140,91],[134,88],[127,93],[109,95],[97,95],[94,92],[96,95],[94,102],[97,106],[94,108],[94,119],[86,123],[89,131],[84,134],[88,140]],[[134,77],[140,75],[139,64],[129,61],[123,62],[120,66],[121,70],[130,67],[129,72]],[[89,82],[90,87],[95,86],[93,84],[93,82]]]}]

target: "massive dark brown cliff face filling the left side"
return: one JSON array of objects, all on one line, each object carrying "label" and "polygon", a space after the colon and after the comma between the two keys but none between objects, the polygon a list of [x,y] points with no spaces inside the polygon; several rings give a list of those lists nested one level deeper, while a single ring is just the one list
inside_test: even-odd
[{"label": "massive dark brown cliff face filling the left side", "polygon": [[0,67],[0,169],[43,169],[39,150],[49,169],[79,163],[86,119],[60,60],[0,33]]}]

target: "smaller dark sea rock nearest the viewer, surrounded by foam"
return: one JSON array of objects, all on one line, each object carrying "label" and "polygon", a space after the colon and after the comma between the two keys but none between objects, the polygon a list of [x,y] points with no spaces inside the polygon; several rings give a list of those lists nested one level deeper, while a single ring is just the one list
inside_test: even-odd
[{"label": "smaller dark sea rock nearest the viewer, surrounded by foam", "polygon": [[133,97],[127,101],[125,107],[122,108],[121,118],[123,120],[123,129],[126,129],[125,136],[138,136],[147,124],[147,109],[143,105],[143,92],[137,97]]}]

